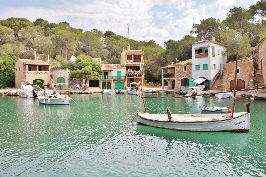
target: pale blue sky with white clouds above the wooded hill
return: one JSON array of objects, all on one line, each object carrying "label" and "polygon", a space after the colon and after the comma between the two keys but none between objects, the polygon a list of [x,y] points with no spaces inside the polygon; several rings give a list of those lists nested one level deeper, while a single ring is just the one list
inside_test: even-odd
[{"label": "pale blue sky with white clouds above the wooded hill", "polygon": [[188,35],[193,23],[214,17],[224,20],[235,5],[248,9],[258,0],[0,0],[0,20],[11,17],[31,22],[68,22],[84,31],[97,29],[137,41],[155,40],[163,47],[169,39]]}]

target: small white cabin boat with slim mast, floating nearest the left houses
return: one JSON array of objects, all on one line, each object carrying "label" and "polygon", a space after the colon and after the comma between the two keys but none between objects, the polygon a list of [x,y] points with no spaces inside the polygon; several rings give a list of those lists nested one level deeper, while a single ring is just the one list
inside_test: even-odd
[{"label": "small white cabin boat with slim mast, floating nearest the left houses", "polygon": [[37,100],[41,104],[69,105],[71,97],[68,95],[50,94],[49,96],[39,96]]}]

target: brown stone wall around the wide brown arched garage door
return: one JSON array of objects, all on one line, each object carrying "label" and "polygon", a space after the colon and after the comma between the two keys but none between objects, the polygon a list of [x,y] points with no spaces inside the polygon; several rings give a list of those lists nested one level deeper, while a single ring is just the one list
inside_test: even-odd
[{"label": "brown stone wall around the wide brown arched garage door", "polygon": [[[245,81],[245,89],[253,88],[254,67],[252,59],[243,59],[238,61],[239,74],[237,79]],[[230,81],[235,79],[235,61],[223,64],[223,83],[226,83],[226,89],[230,90]]]}]

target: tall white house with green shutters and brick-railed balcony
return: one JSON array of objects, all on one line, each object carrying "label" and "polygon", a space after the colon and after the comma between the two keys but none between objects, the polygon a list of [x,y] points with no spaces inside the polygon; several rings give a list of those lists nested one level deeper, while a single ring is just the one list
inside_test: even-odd
[{"label": "tall white house with green shutters and brick-railed balcony", "polygon": [[227,46],[212,40],[201,40],[192,43],[192,78],[205,78],[211,89],[215,80],[222,75],[223,64],[227,57],[224,55]]}]

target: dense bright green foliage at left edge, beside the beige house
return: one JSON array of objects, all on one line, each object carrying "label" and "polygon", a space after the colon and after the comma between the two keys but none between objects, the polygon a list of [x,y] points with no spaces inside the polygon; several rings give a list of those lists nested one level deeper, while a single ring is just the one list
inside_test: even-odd
[{"label": "dense bright green foliage at left edge, beside the beige house", "polygon": [[15,86],[15,61],[0,57],[0,88]]}]

